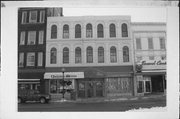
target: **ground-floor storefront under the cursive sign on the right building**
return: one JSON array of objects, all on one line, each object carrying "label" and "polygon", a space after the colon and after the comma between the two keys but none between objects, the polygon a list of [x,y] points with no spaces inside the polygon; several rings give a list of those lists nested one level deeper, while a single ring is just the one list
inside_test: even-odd
[{"label": "ground-floor storefront under the cursive sign on the right building", "polygon": [[[166,92],[166,62],[154,61],[138,64],[141,70],[137,71],[137,94],[152,94]],[[137,68],[136,68],[137,69]]]}]

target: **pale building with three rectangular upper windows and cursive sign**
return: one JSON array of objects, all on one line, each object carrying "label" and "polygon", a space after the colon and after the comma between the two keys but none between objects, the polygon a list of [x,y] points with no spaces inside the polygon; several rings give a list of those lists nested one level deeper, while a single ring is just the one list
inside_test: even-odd
[{"label": "pale building with three rectangular upper windows and cursive sign", "polygon": [[166,90],[166,23],[132,23],[137,95]]}]

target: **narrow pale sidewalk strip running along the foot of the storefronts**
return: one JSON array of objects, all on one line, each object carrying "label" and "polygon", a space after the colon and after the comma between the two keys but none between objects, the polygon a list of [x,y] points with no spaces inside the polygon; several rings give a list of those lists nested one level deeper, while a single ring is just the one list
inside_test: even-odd
[{"label": "narrow pale sidewalk strip running along the foot of the storefronts", "polygon": [[54,102],[74,102],[74,103],[98,103],[98,102],[119,102],[119,101],[132,101],[132,100],[145,100],[145,99],[155,99],[155,98],[166,98],[165,94],[152,94],[145,96],[129,96],[129,97],[103,97],[103,98],[86,98],[86,99],[76,99],[76,100],[51,100],[50,103]]}]

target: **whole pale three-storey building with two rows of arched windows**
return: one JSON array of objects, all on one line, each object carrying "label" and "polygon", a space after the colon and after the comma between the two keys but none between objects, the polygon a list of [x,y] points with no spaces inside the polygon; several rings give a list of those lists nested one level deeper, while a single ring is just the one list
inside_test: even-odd
[{"label": "whole pale three-storey building with two rows of arched windows", "polygon": [[46,38],[44,79],[52,98],[62,97],[62,68],[76,98],[133,95],[130,16],[48,17]]}]

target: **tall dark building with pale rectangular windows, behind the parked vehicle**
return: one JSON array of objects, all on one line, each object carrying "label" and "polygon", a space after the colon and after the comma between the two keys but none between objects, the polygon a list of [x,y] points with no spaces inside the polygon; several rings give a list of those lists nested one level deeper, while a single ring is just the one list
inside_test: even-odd
[{"label": "tall dark building with pale rectangular windows, behind the parked vehicle", "polygon": [[18,88],[45,92],[47,16],[62,8],[20,8],[18,10]]}]

